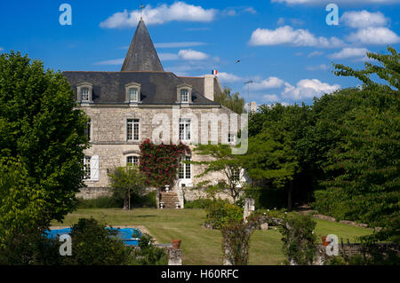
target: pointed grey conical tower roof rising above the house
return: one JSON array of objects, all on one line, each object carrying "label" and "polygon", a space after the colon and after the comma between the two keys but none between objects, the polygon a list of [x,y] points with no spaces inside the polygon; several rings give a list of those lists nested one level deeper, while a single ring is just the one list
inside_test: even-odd
[{"label": "pointed grey conical tower roof rising above the house", "polygon": [[156,48],[148,35],[148,28],[141,18],[121,68],[121,72],[124,71],[164,72]]}]

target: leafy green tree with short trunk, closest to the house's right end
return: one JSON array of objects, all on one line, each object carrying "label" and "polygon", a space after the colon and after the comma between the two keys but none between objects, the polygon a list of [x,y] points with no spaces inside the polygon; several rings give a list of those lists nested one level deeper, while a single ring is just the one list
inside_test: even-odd
[{"label": "leafy green tree with short trunk, closest to the house's right end", "polygon": [[311,124],[310,108],[304,104],[260,106],[260,111],[251,116],[245,168],[252,179],[263,181],[266,189],[286,190],[289,209],[292,192],[300,194],[313,182],[312,153],[308,151]]}]

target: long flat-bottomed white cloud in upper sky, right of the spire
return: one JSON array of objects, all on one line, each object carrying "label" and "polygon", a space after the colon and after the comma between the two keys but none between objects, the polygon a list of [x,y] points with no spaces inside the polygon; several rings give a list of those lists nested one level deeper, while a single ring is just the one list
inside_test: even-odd
[{"label": "long flat-bottomed white cloud in upper sky, right of the spire", "polygon": [[311,34],[307,29],[293,29],[290,26],[268,29],[257,28],[252,32],[249,44],[251,45],[278,45],[291,44],[295,46],[316,46],[322,48],[337,48],[345,43],[337,37],[330,39]]}]

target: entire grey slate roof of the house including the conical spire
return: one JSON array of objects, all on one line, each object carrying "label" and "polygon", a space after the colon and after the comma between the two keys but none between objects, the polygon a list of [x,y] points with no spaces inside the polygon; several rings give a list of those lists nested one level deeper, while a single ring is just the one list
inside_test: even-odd
[{"label": "entire grey slate roof of the house including the conical spire", "polygon": [[[175,105],[177,86],[187,83],[192,86],[192,105],[220,106],[204,97],[204,77],[178,77],[171,72],[164,72],[142,19],[136,28],[121,72],[65,71],[63,74],[75,91],[75,98],[77,84],[91,83],[95,104],[124,104],[125,85],[140,83],[142,105]],[[216,78],[214,92],[220,92]]]}]

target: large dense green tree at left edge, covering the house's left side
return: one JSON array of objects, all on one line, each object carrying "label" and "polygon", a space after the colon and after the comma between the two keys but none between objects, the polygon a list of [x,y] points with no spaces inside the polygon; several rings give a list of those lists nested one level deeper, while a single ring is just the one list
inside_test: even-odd
[{"label": "large dense green tree at left edge, covering the house's left side", "polygon": [[[15,201],[12,206],[20,209],[30,209],[30,200],[40,203],[44,226],[71,212],[84,186],[87,117],[74,106],[74,92],[60,72],[45,71],[41,61],[20,52],[0,56],[0,158],[15,158],[20,165],[14,163],[17,167],[8,176],[23,174],[25,179],[23,184],[7,185],[7,175],[0,175],[6,187],[4,201]],[[28,193],[28,187],[28,200],[18,197]],[[4,205],[12,209],[11,202]],[[34,221],[37,215],[26,216]]]}]

